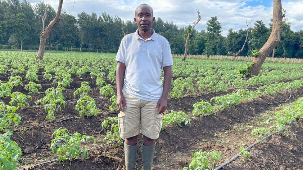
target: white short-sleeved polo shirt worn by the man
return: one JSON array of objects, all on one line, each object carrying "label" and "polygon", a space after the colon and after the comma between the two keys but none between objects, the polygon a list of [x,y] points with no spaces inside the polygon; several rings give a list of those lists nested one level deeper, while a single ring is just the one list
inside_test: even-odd
[{"label": "white short-sleeved polo shirt worn by the man", "polygon": [[154,31],[144,40],[135,33],[123,37],[116,61],[125,63],[123,90],[142,100],[156,102],[163,92],[162,67],[172,66],[170,44]]}]

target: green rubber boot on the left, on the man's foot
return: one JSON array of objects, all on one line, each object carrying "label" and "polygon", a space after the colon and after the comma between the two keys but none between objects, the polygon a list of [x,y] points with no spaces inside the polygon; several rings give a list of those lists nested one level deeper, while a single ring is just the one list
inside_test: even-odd
[{"label": "green rubber boot on the left, on the man's foot", "polygon": [[124,156],[126,170],[133,170],[136,165],[137,145],[131,146],[124,143]]}]

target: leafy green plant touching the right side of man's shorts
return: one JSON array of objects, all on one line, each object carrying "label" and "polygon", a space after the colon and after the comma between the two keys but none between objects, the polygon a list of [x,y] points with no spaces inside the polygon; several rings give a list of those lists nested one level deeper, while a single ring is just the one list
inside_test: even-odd
[{"label": "leafy green plant touching the right side of man's shorts", "polygon": [[165,114],[162,117],[162,128],[161,129],[165,130],[166,127],[173,125],[173,124],[177,124],[180,127],[182,127],[182,124],[190,125],[190,118],[183,111],[171,110],[170,113]]}]

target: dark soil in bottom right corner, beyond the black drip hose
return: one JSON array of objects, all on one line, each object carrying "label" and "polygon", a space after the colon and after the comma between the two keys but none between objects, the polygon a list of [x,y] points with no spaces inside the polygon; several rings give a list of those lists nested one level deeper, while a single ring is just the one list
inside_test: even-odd
[{"label": "dark soil in bottom right corner, beyond the black drip hose", "polygon": [[236,159],[224,169],[302,169],[303,121],[287,127],[285,133],[276,134],[253,147],[246,162]]}]

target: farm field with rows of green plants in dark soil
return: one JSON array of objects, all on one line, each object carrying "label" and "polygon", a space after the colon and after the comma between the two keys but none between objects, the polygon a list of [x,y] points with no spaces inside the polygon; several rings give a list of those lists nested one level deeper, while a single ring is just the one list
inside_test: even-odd
[{"label": "farm field with rows of green plants in dark soil", "polygon": [[[115,54],[35,56],[0,51],[1,168],[124,168]],[[213,169],[239,153],[224,169],[302,168],[303,65],[265,62],[247,79],[249,67],[174,59],[154,169]]]}]

